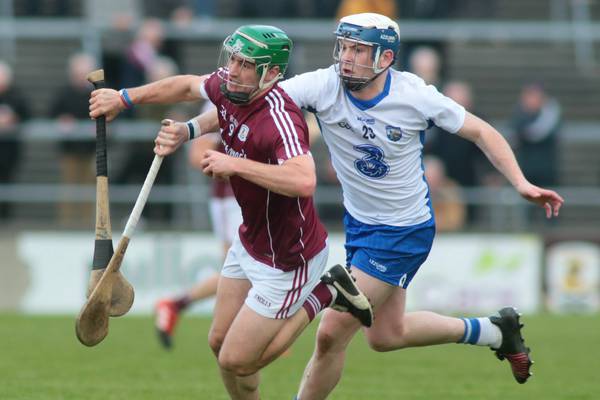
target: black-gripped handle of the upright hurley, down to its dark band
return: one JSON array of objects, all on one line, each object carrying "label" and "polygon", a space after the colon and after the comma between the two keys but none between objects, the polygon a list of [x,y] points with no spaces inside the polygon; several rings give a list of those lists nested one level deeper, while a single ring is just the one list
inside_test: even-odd
[{"label": "black-gripped handle of the upright hurley, down to its dark band", "polygon": [[[95,89],[106,87],[102,69],[89,73],[87,80]],[[106,117],[103,115],[96,118],[96,240],[92,269],[106,268],[113,252],[108,196]]]}]

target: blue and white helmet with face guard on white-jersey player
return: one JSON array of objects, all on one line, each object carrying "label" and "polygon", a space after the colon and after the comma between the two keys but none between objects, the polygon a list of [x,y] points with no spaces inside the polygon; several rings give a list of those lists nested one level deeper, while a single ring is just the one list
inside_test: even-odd
[{"label": "blue and white helmet with face guard on white-jersey player", "polygon": [[[394,53],[394,61],[400,49],[400,28],[398,24],[385,15],[375,13],[362,13],[348,15],[342,18],[336,31],[336,46],[333,51],[333,58],[337,63],[338,73],[344,84],[350,90],[359,90],[365,87],[373,79],[382,73],[386,68],[379,64],[379,57],[386,50]],[[355,42],[360,45],[366,45],[373,49],[371,52],[372,65],[355,66],[372,68],[375,76],[354,76],[342,72],[340,67],[341,52],[345,42]],[[347,63],[346,63],[347,64]],[[353,67],[354,65],[350,65]]]}]

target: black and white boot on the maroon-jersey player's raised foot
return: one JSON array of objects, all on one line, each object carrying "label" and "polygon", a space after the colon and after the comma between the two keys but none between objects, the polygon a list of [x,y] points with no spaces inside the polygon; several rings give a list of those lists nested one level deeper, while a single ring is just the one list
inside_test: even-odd
[{"label": "black and white boot on the maroon-jersey player's raised foot", "polygon": [[321,281],[333,286],[337,291],[331,308],[337,311],[349,312],[364,326],[368,327],[373,324],[371,303],[356,286],[355,279],[350,275],[347,268],[337,264],[321,277]]}]

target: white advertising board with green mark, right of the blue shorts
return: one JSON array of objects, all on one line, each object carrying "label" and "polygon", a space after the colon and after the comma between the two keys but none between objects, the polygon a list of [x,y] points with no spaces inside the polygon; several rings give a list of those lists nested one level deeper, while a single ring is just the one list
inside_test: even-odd
[{"label": "white advertising board with green mark, right of the blue shorts", "polygon": [[539,310],[543,247],[534,236],[446,235],[407,292],[407,308],[481,314]]}]

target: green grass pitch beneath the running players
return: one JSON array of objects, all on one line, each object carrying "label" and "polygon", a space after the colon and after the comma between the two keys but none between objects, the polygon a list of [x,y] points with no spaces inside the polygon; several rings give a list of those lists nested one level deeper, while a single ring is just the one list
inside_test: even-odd
[{"label": "green grass pitch beneath the running players", "polygon": [[[525,385],[485,348],[446,345],[392,353],[359,336],[331,399],[600,399],[600,318],[525,319],[535,376]],[[150,318],[111,320],[110,335],[86,348],[74,317],[0,314],[0,399],[227,399],[207,346],[210,321],[184,318],[176,347],[163,351]],[[312,348],[309,328],[292,354],[263,371],[262,398],[293,398]]]}]

